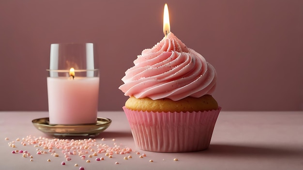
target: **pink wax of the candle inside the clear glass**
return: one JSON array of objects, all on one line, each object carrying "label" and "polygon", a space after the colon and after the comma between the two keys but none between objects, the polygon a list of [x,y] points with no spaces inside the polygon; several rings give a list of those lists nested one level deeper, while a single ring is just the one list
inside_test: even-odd
[{"label": "pink wax of the candle inside the clear glass", "polygon": [[99,77],[47,77],[50,124],[94,124]]}]

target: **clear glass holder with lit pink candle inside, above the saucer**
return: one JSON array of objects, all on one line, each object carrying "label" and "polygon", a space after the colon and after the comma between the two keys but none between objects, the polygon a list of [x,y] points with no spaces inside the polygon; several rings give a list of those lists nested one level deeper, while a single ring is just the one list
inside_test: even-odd
[{"label": "clear glass holder with lit pink candle inside, above the saucer", "polygon": [[95,124],[99,70],[92,43],[51,44],[47,96],[49,124]]}]

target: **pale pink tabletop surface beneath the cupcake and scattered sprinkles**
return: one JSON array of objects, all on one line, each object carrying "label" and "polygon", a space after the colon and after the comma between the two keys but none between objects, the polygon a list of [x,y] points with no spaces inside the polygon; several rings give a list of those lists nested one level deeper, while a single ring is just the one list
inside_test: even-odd
[{"label": "pale pink tabletop surface beneath the cupcake and scattered sprinkles", "polygon": [[[112,120],[112,124],[99,136],[97,143],[113,145],[114,142],[133,151],[146,154],[139,158],[135,152],[133,158],[124,160],[125,155],[113,155],[108,158],[99,154],[87,163],[77,155],[71,155],[72,161],[65,161],[60,150],[59,157],[50,153],[36,155],[33,146],[17,148],[8,143],[28,135],[52,139],[37,130],[31,120],[48,117],[48,112],[0,112],[0,169],[1,170],[78,170],[74,164],[85,170],[303,170],[303,111],[245,112],[221,111],[210,148],[191,153],[154,153],[136,148],[126,116],[122,111],[98,112],[99,117]],[[9,140],[5,140],[9,138]],[[101,139],[105,140],[102,141]],[[112,141],[115,139],[116,141]],[[27,150],[30,158],[22,154],[12,154],[14,150]],[[95,157],[105,157],[105,161],[95,161]],[[174,161],[178,158],[179,161]],[[46,161],[50,159],[51,161]],[[150,162],[153,160],[153,162]],[[61,162],[66,165],[62,166]],[[119,162],[119,164],[115,164]]]}]

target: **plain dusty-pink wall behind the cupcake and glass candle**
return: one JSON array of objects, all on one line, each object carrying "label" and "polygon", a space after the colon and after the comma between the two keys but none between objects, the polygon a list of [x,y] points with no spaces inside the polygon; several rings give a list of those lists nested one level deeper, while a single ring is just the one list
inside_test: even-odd
[{"label": "plain dusty-pink wall behind the cupcake and glass candle", "polygon": [[224,110],[303,110],[303,0],[1,0],[0,110],[47,110],[51,43],[91,42],[99,110],[122,110],[118,89],[142,49],[171,31],[216,68]]}]

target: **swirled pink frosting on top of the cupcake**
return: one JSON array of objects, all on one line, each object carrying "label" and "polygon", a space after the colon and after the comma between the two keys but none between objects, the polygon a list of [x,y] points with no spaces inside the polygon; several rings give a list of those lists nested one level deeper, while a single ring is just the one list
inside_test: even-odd
[{"label": "swirled pink frosting on top of the cupcake", "polygon": [[144,49],[134,63],[119,87],[127,96],[177,101],[212,94],[216,86],[213,66],[172,32],[152,48]]}]

